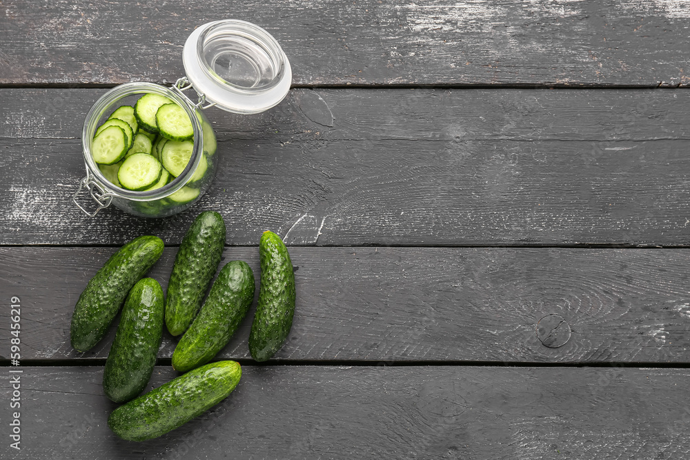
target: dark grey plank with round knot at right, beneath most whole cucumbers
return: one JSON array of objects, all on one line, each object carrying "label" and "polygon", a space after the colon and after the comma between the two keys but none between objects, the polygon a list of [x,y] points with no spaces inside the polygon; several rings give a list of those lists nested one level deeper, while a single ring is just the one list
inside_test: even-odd
[{"label": "dark grey plank with round knot at right, beneath most whole cucumbers", "polygon": [[[69,326],[79,294],[112,252],[0,248],[3,357],[10,349],[11,296],[23,307],[23,359],[107,357],[115,324],[85,354],[70,347]],[[166,248],[150,273],[164,287],[176,252]],[[298,267],[297,313],[279,361],[688,361],[684,250],[290,248],[290,254]],[[224,261],[233,259],[247,261],[258,281],[257,248],[226,248]],[[219,357],[250,359],[253,312]],[[538,321],[552,314],[571,329],[560,348],[542,345],[537,335]],[[166,332],[159,357],[171,357],[175,343]]]}]

